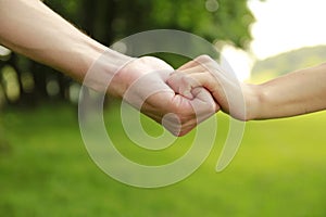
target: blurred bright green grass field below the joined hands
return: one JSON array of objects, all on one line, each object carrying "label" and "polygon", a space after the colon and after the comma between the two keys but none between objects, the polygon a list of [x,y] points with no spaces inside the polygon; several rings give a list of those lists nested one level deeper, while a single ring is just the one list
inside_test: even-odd
[{"label": "blurred bright green grass field below the joined hands", "polygon": [[[116,114],[112,106],[105,122],[114,126],[118,149],[140,163],[176,158],[193,138],[181,138],[184,146],[164,156],[140,153]],[[0,216],[326,216],[326,113],[248,123],[236,158],[216,174],[228,126],[218,115],[216,144],[205,163],[161,189],[128,187],[101,171],[84,146],[73,107],[10,110],[0,118]],[[160,131],[142,123],[154,128],[151,133]]]}]

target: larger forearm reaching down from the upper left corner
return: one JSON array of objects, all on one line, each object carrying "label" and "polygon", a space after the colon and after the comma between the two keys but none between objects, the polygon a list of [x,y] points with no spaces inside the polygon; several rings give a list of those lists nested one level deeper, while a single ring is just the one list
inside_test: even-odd
[{"label": "larger forearm reaching down from the upper left corner", "polygon": [[0,43],[78,81],[104,51],[106,73],[130,60],[80,33],[39,0],[0,0]]}]

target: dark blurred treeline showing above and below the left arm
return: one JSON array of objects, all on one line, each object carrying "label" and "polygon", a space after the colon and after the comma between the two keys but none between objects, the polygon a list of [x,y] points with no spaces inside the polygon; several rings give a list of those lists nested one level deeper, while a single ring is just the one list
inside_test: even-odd
[{"label": "dark blurred treeline showing above and below the left arm", "polygon": [[[138,31],[170,28],[196,34],[210,42],[246,49],[254,21],[247,0],[43,2],[108,47]],[[79,87],[71,78],[3,48],[0,48],[0,106],[30,106],[47,100],[76,102],[78,97]]]}]

